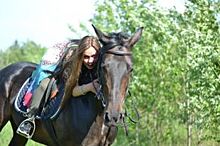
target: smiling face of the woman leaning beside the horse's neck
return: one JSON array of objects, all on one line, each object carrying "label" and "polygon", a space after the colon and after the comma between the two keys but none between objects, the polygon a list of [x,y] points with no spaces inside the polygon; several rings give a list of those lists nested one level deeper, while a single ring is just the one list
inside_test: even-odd
[{"label": "smiling face of the woman leaning beside the horse's neck", "polygon": [[88,69],[93,69],[98,60],[98,52],[95,48],[90,47],[85,50],[83,63]]}]

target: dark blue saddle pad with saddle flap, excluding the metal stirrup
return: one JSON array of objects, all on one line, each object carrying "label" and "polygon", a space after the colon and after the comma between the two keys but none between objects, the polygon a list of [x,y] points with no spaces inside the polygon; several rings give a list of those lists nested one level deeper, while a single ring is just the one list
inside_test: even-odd
[{"label": "dark blue saddle pad with saddle flap, excluding the metal stirrup", "polygon": [[[28,118],[31,118],[29,116],[30,109],[24,105],[24,97],[30,85],[31,79],[28,78],[19,90],[14,102],[16,111]],[[57,85],[56,80],[49,77],[42,80],[42,83],[35,92],[37,92],[35,93],[37,94],[35,100],[41,100],[39,101],[39,107],[37,107],[38,111],[36,112],[36,118],[46,120],[54,117],[64,94],[64,83]]]}]

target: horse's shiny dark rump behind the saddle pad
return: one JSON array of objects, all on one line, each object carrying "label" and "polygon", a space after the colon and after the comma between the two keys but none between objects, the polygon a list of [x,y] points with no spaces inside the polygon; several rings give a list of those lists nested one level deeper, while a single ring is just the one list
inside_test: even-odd
[{"label": "horse's shiny dark rump behind the saddle pad", "polygon": [[10,118],[14,97],[36,64],[18,62],[0,70],[0,131]]}]

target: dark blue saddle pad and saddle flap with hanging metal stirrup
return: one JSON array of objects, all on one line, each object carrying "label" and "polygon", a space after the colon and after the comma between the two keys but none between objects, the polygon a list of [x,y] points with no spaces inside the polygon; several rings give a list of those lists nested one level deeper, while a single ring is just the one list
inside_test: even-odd
[{"label": "dark blue saddle pad and saddle flap with hanging metal stirrup", "polygon": [[54,78],[45,78],[35,91],[35,99],[33,100],[37,102],[31,107],[32,109],[29,109],[24,104],[24,97],[31,83],[30,78],[24,82],[14,102],[16,111],[27,117],[20,123],[16,132],[26,138],[31,138],[35,132],[35,118],[46,121],[57,115],[57,110],[64,94],[64,84],[57,85]]}]

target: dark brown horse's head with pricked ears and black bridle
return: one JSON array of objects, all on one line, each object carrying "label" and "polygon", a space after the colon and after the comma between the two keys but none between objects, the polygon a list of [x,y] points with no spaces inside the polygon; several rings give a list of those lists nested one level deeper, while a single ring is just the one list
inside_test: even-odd
[{"label": "dark brown horse's head with pricked ears and black bridle", "polygon": [[[94,26],[93,26],[94,27]],[[94,27],[103,44],[100,50],[99,81],[105,102],[105,124],[115,125],[123,118],[123,104],[132,72],[132,52],[134,44],[140,39],[143,28],[129,37],[123,33],[104,34]]]}]

